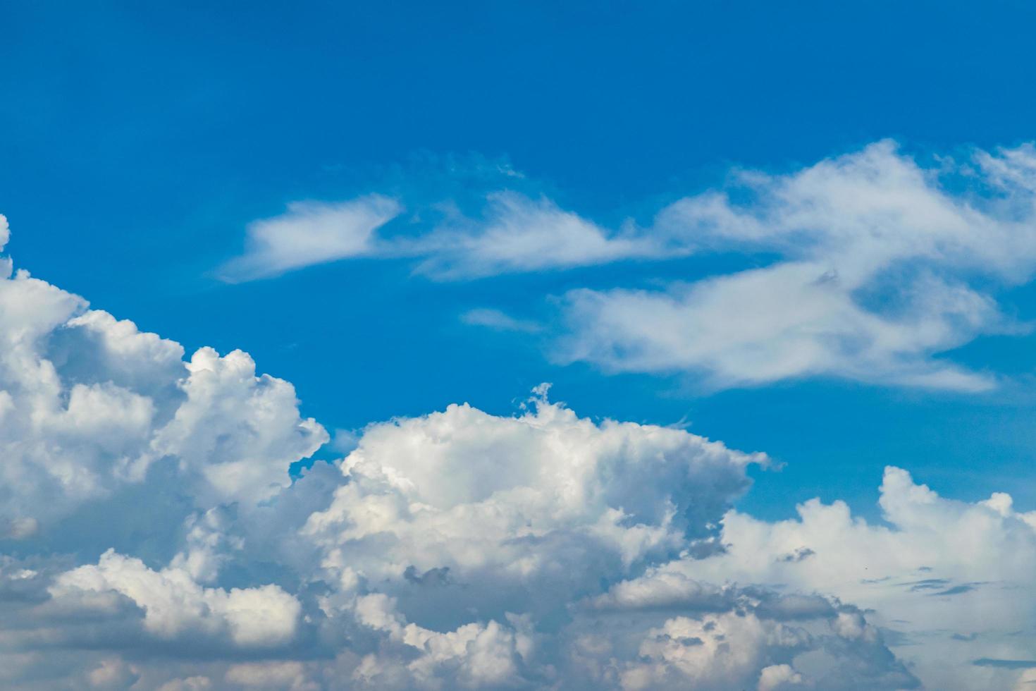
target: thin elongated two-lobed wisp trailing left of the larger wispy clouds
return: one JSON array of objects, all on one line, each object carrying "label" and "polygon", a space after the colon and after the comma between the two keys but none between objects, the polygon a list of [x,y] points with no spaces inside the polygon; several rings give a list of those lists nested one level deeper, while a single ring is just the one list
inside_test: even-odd
[{"label": "thin elongated two-lobed wisp trailing left of the larger wispy clouds", "polygon": [[509,191],[487,195],[482,218],[451,214],[416,234],[379,236],[378,229],[402,210],[380,195],[339,204],[294,202],[287,213],[251,223],[244,254],[224,264],[220,275],[236,283],[350,257],[402,257],[415,262],[418,273],[453,281],[677,251],[633,230],[609,232],[549,199]]}]

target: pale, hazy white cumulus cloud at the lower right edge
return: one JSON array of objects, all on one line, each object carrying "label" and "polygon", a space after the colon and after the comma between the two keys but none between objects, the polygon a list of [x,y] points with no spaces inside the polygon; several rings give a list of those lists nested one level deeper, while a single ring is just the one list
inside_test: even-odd
[{"label": "pale, hazy white cumulus cloud at the lower right edge", "polygon": [[[731,511],[723,554],[649,570],[607,597],[678,607],[682,597],[701,601],[698,581],[825,593],[872,612],[868,620],[894,635],[897,654],[926,686],[1009,687],[1016,669],[971,663],[1031,658],[1036,515],[1014,512],[1002,493],[974,503],[943,498],[894,467],[881,490],[889,526],[854,518],[840,501],[813,499],[797,519],[775,523]],[[840,616],[842,637],[863,635],[855,615]]]}]

